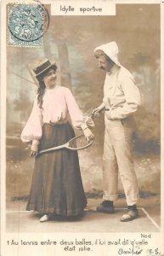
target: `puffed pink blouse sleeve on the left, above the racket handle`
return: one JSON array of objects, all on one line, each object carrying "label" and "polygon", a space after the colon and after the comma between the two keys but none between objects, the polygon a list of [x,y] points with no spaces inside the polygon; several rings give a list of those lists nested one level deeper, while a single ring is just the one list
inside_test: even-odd
[{"label": "puffed pink blouse sleeve on the left, above the racket handle", "polygon": [[42,112],[38,107],[37,98],[34,101],[31,115],[27,120],[20,137],[24,143],[32,141],[32,143],[35,144],[37,144],[42,137]]}]

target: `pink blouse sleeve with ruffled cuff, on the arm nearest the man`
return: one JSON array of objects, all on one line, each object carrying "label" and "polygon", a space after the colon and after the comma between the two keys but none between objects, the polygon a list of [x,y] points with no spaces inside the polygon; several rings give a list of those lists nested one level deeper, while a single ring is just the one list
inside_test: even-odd
[{"label": "pink blouse sleeve with ruffled cuff, on the arm nearest the man", "polygon": [[83,117],[82,111],[78,107],[74,96],[71,93],[71,90],[65,88],[65,102],[68,108],[68,112],[71,119],[71,124],[82,130],[88,128],[88,126],[93,127],[93,120],[89,117]]}]

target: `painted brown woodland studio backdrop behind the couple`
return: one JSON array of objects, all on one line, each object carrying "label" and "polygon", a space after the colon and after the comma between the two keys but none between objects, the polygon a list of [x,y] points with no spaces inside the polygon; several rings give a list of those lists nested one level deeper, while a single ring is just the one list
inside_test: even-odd
[{"label": "painted brown woodland studio backdrop behind the couple", "polygon": [[[116,16],[51,16],[42,48],[8,47],[7,201],[26,201],[33,159],[20,132],[31,113],[37,87],[27,65],[42,58],[57,61],[59,84],[69,87],[84,114],[103,98],[105,73],[93,49],[116,41],[120,62],[133,73],[143,105],[135,114],[134,164],[141,198],[160,196],[160,9],[155,4],[117,4]],[[22,79],[22,78],[25,79]],[[95,142],[79,152],[82,182],[88,197],[101,197],[104,115],[95,119]],[[120,182],[120,196],[123,196]],[[159,200],[160,201],[160,200]]]}]

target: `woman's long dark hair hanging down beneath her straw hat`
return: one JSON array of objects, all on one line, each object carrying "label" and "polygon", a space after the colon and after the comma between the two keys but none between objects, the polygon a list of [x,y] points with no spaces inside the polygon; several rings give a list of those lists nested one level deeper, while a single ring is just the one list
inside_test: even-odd
[{"label": "woman's long dark hair hanging down beneath her straw hat", "polygon": [[57,69],[57,66],[54,65],[52,67],[49,67],[48,70],[46,70],[44,73],[42,73],[41,75],[39,75],[37,77],[37,81],[39,83],[39,87],[37,89],[37,104],[38,104],[39,108],[41,108],[41,109],[42,109],[42,97],[44,95],[45,88],[46,88],[46,85],[43,82],[43,78],[47,75],[47,73],[50,69],[54,69],[54,72],[55,72]]}]

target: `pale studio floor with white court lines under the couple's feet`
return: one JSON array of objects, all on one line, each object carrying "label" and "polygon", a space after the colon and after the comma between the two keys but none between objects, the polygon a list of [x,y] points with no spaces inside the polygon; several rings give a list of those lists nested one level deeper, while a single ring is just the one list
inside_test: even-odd
[{"label": "pale studio floor with white court lines under the couple's feet", "polygon": [[160,200],[158,196],[139,200],[139,218],[128,223],[120,222],[126,212],[125,198],[116,201],[114,214],[97,212],[101,199],[88,199],[88,207],[78,219],[54,217],[40,223],[41,214],[26,212],[25,201],[8,201],[6,212],[7,232],[159,232]]}]

